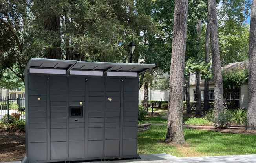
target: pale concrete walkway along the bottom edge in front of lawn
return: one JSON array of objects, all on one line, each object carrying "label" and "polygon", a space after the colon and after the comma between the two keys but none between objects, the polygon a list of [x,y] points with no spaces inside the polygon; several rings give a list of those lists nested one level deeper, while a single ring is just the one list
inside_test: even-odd
[{"label": "pale concrete walkway along the bottom edge in front of lawn", "polygon": [[[256,154],[234,156],[176,157],[170,154],[141,154],[141,159],[95,161],[91,163],[256,163]],[[8,162],[8,163],[20,163]],[[90,163],[90,162],[84,162]]]}]

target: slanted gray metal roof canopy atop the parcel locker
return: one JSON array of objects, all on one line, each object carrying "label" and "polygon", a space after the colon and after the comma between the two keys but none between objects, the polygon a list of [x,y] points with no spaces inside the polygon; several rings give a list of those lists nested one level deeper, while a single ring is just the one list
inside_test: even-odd
[{"label": "slanted gray metal roof canopy atop the parcel locker", "polygon": [[87,71],[103,71],[106,72],[137,72],[142,73],[155,67],[155,64],[137,64],[137,63],[108,63],[108,62],[83,62],[75,60],[55,60],[44,58],[31,58],[27,63],[26,69],[65,69],[71,70],[87,70]]}]

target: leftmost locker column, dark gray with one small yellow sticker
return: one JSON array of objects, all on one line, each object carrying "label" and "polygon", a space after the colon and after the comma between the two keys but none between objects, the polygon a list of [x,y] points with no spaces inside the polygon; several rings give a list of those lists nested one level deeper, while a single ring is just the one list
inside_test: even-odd
[{"label": "leftmost locker column, dark gray with one small yellow sticker", "polygon": [[46,76],[30,75],[28,78],[29,161],[47,160],[46,80]]}]

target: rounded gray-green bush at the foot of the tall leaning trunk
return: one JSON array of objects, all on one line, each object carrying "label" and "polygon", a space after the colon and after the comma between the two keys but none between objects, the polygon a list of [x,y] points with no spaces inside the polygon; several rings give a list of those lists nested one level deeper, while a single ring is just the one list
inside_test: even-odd
[{"label": "rounded gray-green bush at the foot of the tall leaning trunk", "polygon": [[220,112],[217,118],[213,120],[216,128],[229,128],[232,123],[232,113],[230,111]]}]

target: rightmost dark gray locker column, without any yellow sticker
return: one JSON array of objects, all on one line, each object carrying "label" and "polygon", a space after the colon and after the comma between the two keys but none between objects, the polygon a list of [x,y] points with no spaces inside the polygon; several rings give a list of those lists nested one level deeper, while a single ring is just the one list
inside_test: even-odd
[{"label": "rightmost dark gray locker column, without any yellow sticker", "polygon": [[123,156],[137,155],[139,81],[124,79]]}]

